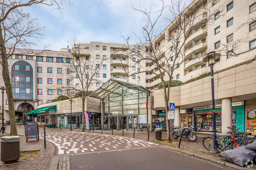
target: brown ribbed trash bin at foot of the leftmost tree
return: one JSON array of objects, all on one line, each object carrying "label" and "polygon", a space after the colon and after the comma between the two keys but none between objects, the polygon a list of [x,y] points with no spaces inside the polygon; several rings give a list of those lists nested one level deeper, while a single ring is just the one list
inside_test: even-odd
[{"label": "brown ribbed trash bin at foot of the leftmost tree", "polygon": [[1,161],[10,164],[19,159],[19,136],[1,137]]}]

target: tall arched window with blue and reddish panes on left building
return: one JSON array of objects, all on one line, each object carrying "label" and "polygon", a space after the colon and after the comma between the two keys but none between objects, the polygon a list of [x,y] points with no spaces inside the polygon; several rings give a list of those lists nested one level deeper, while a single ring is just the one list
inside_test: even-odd
[{"label": "tall arched window with blue and reddish panes on left building", "polygon": [[12,94],[14,99],[33,99],[33,68],[28,62],[12,66]]}]

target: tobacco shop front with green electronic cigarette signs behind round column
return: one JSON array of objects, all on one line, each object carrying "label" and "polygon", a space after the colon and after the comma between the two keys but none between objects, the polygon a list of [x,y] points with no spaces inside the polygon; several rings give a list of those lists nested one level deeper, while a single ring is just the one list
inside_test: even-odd
[{"label": "tobacco shop front with green electronic cigarette signs behind round column", "polygon": [[[196,131],[210,132],[212,129],[212,105],[194,107],[194,125]],[[215,123],[217,132],[222,130],[221,104],[215,105]],[[244,101],[232,102],[232,128],[238,129],[241,132],[245,131],[245,106]]]}]

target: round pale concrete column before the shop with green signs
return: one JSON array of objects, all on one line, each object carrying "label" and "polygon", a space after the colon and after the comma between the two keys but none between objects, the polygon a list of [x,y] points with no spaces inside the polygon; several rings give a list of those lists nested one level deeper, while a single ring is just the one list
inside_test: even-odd
[{"label": "round pale concrete column before the shop with green signs", "polygon": [[227,127],[231,127],[232,125],[232,107],[231,107],[231,98],[225,98],[221,100],[221,134],[227,134],[229,129]]}]

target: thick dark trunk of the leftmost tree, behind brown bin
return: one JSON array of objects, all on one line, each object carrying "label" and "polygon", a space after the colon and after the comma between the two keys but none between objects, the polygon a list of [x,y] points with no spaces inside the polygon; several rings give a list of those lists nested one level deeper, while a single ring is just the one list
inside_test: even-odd
[{"label": "thick dark trunk of the leftmost tree, behind brown bin", "polygon": [[3,33],[0,25],[0,52],[2,56],[2,76],[4,85],[7,92],[8,106],[9,106],[9,117],[10,117],[10,135],[17,135],[17,128],[15,122],[15,111],[14,111],[14,100],[12,96],[12,85],[10,80],[10,75],[8,71],[8,60],[6,55],[6,47],[3,39]]}]

